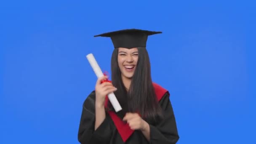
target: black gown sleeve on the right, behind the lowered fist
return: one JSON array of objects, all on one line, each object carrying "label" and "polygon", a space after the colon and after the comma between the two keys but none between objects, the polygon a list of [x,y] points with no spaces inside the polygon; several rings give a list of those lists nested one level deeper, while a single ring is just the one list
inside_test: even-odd
[{"label": "black gown sleeve on the right, behind the lowered fist", "polygon": [[179,135],[169,93],[165,93],[160,100],[160,106],[163,109],[163,119],[156,125],[149,124],[150,144],[176,144]]}]

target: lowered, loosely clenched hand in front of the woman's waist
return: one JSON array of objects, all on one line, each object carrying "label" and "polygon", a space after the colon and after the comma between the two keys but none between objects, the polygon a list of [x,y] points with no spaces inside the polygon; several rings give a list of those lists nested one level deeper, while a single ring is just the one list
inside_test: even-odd
[{"label": "lowered, loosely clenched hand in front of the woman's waist", "polygon": [[126,121],[132,130],[144,131],[148,123],[144,121],[138,113],[126,113],[123,121]]}]

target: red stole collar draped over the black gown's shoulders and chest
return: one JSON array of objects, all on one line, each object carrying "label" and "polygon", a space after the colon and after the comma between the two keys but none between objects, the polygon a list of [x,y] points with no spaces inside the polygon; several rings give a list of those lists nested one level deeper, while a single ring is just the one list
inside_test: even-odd
[{"label": "red stole collar draped over the black gown's shoulders and chest", "polygon": [[[153,86],[155,88],[155,93],[157,95],[157,100],[160,101],[163,97],[163,95],[167,92],[164,88],[162,88],[160,85],[157,85],[156,83],[153,83]],[[105,107],[107,107],[107,101],[108,98],[106,96],[106,101],[105,101]],[[108,112],[109,116],[112,118],[113,122],[115,123],[115,126],[117,128],[117,131],[119,132],[121,138],[125,142],[133,133],[133,130],[129,127],[129,125],[123,120],[118,117],[115,112],[109,111]]]}]

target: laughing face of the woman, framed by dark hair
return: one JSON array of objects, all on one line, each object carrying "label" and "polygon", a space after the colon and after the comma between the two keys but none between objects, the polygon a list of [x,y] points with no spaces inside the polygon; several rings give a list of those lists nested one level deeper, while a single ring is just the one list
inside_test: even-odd
[{"label": "laughing face of the woman, framed by dark hair", "polygon": [[118,48],[118,66],[123,78],[131,79],[137,66],[138,48]]}]

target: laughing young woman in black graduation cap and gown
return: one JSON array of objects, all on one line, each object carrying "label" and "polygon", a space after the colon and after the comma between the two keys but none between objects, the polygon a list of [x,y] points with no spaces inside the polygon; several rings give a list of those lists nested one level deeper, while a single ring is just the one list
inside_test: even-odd
[{"label": "laughing young woman in black graduation cap and gown", "polygon": [[[175,144],[176,128],[169,92],[152,82],[147,37],[161,32],[124,29],[104,33],[111,37],[112,81],[97,80],[83,103],[78,131],[81,144]],[[96,37],[95,36],[95,37]],[[114,92],[122,110],[107,99]]]}]

